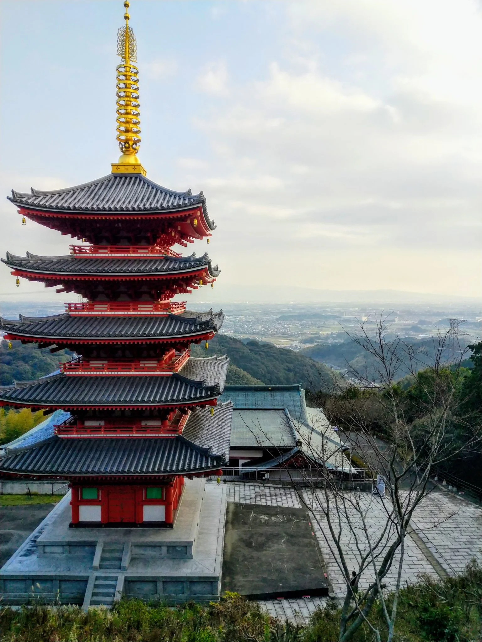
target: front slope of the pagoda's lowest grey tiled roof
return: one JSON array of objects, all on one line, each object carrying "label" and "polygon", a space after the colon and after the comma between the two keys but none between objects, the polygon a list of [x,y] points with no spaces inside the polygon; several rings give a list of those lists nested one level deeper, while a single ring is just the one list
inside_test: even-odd
[{"label": "front slope of the pagoda's lowest grey tiled roof", "polygon": [[6,450],[1,473],[49,476],[192,474],[219,469],[226,460],[183,437],[79,438],[53,437],[40,446]]}]

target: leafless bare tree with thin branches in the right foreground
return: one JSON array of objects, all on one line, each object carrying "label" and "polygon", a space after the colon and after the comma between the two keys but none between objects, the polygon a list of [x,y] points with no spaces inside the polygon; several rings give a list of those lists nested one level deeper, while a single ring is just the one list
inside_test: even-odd
[{"label": "leafless bare tree with thin branches in the right foreground", "polygon": [[[283,465],[343,577],[339,641],[352,639],[365,623],[377,642],[390,642],[414,512],[434,488],[436,467],[479,443],[481,429],[463,410],[460,364],[467,349],[453,332],[433,338],[429,367],[426,352],[392,336],[389,315],[375,317],[370,331],[359,324],[350,336],[366,354],[364,368],[348,376],[356,387],[335,377],[330,393],[319,397],[320,412],[311,415],[310,426],[306,418],[293,418],[305,457],[303,483]],[[409,392],[397,385],[406,372]],[[374,414],[384,441],[373,434]],[[343,439],[337,443],[330,424],[341,419]],[[368,482],[344,455],[347,446],[368,464]],[[384,627],[375,624],[375,603]]]}]

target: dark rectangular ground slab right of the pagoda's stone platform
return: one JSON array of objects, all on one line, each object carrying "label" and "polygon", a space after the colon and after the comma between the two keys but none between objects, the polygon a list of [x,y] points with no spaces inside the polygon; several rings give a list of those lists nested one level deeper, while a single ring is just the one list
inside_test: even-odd
[{"label": "dark rectangular ground slab right of the pagoda's stone platform", "polygon": [[228,502],[222,591],[251,600],[328,595],[307,512]]}]

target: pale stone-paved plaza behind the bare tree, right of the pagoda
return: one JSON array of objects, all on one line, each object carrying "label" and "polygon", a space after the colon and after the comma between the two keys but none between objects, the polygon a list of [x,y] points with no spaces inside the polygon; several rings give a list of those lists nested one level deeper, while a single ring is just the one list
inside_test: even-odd
[{"label": "pale stone-paved plaza behind the bare tree, right of the pagoda", "polygon": [[[307,503],[310,501],[307,490],[303,491]],[[228,483],[228,501],[260,504],[267,506],[301,508],[301,502],[294,489],[255,483]],[[371,494],[362,496],[366,512],[366,523],[371,535],[376,536],[385,523],[384,509],[379,498]],[[315,511],[323,525],[323,517]],[[328,578],[337,597],[344,594],[343,576],[330,552],[321,528],[314,520],[314,528],[321,553],[325,559]],[[406,539],[405,561],[402,583],[416,582],[420,574],[438,578],[447,573],[455,575],[463,571],[472,558],[482,561],[482,508],[469,501],[454,496],[448,491],[436,489],[424,499],[412,522],[414,534]],[[348,532],[343,536],[348,560],[354,564],[357,559],[354,542]],[[396,566],[387,577],[388,588],[395,586]],[[361,580],[361,587],[367,586],[370,574]],[[306,621],[316,608],[325,603],[326,598],[303,600],[274,600],[262,602],[272,616]]]}]

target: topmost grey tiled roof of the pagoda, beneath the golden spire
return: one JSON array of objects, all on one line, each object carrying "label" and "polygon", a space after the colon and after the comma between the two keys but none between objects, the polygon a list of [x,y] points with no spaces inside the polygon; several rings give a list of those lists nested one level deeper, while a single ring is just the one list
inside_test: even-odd
[{"label": "topmost grey tiled roof of the pagoda, beneath the golden spire", "polygon": [[31,193],[17,192],[7,197],[15,205],[64,212],[164,212],[188,209],[201,205],[204,218],[211,230],[215,229],[206,209],[204,194],[175,192],[157,185],[145,176],[108,174],[89,183],[64,189],[40,190],[31,187]]}]

